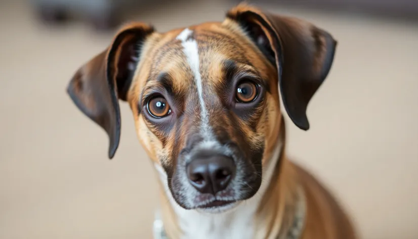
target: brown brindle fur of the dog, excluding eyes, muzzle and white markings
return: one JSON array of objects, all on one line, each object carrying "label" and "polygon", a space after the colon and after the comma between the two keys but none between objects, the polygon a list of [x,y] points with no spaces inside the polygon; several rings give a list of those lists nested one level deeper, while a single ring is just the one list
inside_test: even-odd
[{"label": "brown brindle fur of the dog, excluding eyes, muzzle and white markings", "polygon": [[[257,33],[246,31],[242,24],[248,24]],[[222,23],[204,23],[189,29],[198,43],[199,70],[207,90],[204,96],[211,102],[207,105],[210,125],[217,137],[237,142],[245,155],[262,150],[263,167],[269,165],[277,142],[283,142],[278,163],[269,166],[275,168],[274,175],[270,182],[263,182],[268,183],[268,190],[258,195],[263,198],[254,218],[255,238],[275,238],[291,226],[298,186],[303,187],[307,198],[303,239],[355,238],[350,220],[330,193],[287,160],[279,102],[282,97],[286,111],[298,127],[309,128],[306,107],[328,73],[328,61],[332,61],[336,42],[310,23],[267,14],[246,5],[232,9]],[[68,88],[77,106],[109,134],[109,157],[113,157],[120,134],[115,100],[127,101],[139,141],[152,162],[164,168],[169,178],[176,171],[181,149],[198,137],[194,134],[199,123],[196,85],[181,42],[176,39],[182,30],[158,33],[142,23],[123,27],[112,46],[80,68]],[[271,59],[250,38],[251,34],[266,37],[273,54]],[[125,68],[130,56],[128,46],[135,47],[133,43],[140,45],[139,61],[135,62],[132,82],[125,82],[130,73]],[[257,78],[263,86],[260,93],[263,98],[245,111],[245,117],[223,110],[230,104],[230,93],[225,89],[236,74]],[[147,116],[146,100],[156,91],[171,95],[168,102],[175,121],[167,122],[169,119],[164,118],[157,121]],[[182,231],[162,185],[161,198],[165,230],[170,238],[180,238]]]}]

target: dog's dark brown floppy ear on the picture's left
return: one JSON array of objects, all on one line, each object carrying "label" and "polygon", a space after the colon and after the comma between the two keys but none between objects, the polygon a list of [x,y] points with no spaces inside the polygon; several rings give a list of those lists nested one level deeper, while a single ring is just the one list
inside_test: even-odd
[{"label": "dog's dark brown floppy ear on the picture's left", "polygon": [[75,105],[109,135],[109,158],[119,145],[118,99],[127,100],[141,45],[152,32],[151,26],[142,23],[122,28],[111,46],[81,66],[68,85]]}]

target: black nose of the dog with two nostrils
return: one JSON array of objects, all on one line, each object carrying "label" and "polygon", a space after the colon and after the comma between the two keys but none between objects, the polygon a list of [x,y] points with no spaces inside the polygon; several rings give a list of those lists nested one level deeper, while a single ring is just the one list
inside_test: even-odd
[{"label": "black nose of the dog with two nostrils", "polygon": [[224,190],[234,174],[234,161],[225,155],[196,158],[187,166],[187,177],[190,183],[201,193],[215,195]]}]

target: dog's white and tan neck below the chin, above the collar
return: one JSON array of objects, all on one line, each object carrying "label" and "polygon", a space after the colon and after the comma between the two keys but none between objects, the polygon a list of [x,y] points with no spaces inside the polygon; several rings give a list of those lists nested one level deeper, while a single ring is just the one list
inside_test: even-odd
[{"label": "dog's white and tan neck below the chin, above the collar", "polygon": [[297,195],[295,178],[284,154],[284,127],[281,131],[263,169],[263,183],[257,194],[225,213],[181,208],[170,195],[165,173],[156,166],[163,182],[161,217],[168,238],[277,238],[287,230],[295,215]]}]

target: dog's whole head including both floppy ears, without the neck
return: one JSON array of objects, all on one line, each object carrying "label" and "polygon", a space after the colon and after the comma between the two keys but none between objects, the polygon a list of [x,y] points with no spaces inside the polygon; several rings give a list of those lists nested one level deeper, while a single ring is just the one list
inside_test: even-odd
[{"label": "dog's whole head including both floppy ears, without the neck", "polygon": [[280,131],[278,89],[292,121],[307,130],[306,107],[335,46],[307,22],[241,5],[222,23],[166,33],[128,25],[79,69],[68,92],[109,134],[109,157],[121,99],[174,200],[185,209],[228,208],[262,184]]}]

